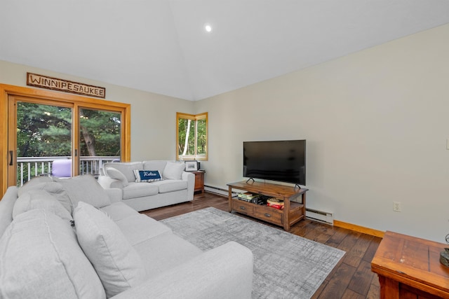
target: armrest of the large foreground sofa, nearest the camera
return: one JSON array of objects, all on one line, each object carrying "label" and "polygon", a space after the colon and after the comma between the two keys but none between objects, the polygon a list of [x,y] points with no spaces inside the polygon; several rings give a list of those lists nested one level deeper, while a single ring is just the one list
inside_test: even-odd
[{"label": "armrest of the large foreground sofa, nearest the camera", "polygon": [[253,253],[228,242],[113,298],[250,299],[252,289]]}]

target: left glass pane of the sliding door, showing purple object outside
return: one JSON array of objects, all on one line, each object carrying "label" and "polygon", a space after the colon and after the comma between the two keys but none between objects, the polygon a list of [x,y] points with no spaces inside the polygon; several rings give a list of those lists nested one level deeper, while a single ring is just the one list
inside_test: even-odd
[{"label": "left glass pane of the sliding door, showing purple object outside", "polygon": [[72,176],[72,108],[17,101],[18,186],[34,176]]}]

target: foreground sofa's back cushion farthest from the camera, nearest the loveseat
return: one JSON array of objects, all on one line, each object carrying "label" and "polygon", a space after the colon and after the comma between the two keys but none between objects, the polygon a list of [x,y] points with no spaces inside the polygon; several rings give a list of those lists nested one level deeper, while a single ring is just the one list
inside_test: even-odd
[{"label": "foreground sofa's back cushion farthest from the camera, nearest the loveseat", "polygon": [[70,179],[53,179],[64,187],[73,207],[76,207],[78,202],[87,202],[98,208],[111,204],[105,189],[91,175],[74,176]]}]

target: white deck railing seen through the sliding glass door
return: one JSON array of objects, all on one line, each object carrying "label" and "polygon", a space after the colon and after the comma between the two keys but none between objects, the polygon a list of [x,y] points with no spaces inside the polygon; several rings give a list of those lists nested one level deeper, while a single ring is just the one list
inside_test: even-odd
[{"label": "white deck railing seen through the sliding glass door", "polygon": [[[18,157],[17,175],[18,186],[32,179],[34,176],[51,174],[51,166],[54,160],[67,160],[71,157]],[[119,156],[83,156],[79,158],[79,174],[100,174],[103,163],[120,160]]]}]

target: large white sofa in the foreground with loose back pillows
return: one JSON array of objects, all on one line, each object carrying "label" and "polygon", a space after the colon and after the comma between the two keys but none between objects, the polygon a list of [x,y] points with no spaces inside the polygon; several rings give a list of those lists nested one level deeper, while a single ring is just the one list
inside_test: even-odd
[{"label": "large white sofa in the foreground with loose back pillows", "polygon": [[253,254],[203,252],[93,176],[39,177],[0,201],[0,298],[250,298]]}]

